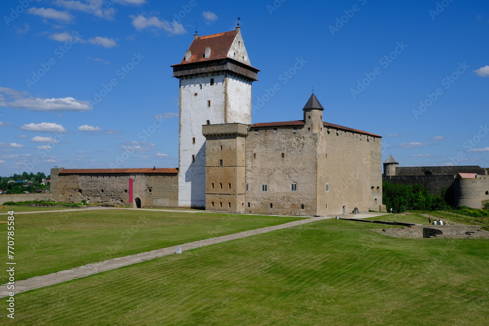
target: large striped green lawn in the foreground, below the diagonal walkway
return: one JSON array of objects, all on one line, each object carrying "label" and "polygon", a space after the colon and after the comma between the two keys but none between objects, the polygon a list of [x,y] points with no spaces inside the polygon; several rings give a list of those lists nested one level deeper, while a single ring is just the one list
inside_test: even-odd
[{"label": "large striped green lawn in the foreground, below the diagonal walkway", "polygon": [[488,240],[290,228],[17,294],[15,317],[19,325],[488,325],[488,251]]}]

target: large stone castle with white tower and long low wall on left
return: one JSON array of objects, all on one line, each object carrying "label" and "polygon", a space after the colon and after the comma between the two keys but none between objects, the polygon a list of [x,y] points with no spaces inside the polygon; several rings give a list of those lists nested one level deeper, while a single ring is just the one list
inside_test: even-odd
[{"label": "large stone castle with white tower and long low wall on left", "polygon": [[[195,35],[180,63],[178,169],[51,170],[56,200],[233,213],[338,215],[383,210],[381,136],[323,121],[251,124],[251,66],[240,27]],[[298,108],[300,109],[300,108]]]}]

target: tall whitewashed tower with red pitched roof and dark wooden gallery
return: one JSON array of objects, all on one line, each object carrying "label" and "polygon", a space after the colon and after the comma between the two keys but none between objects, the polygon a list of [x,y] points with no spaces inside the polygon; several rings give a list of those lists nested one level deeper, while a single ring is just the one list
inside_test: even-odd
[{"label": "tall whitewashed tower with red pitched roof and dark wooden gallery", "polygon": [[207,36],[194,35],[183,60],[172,65],[180,80],[178,205],[205,207],[205,137],[202,125],[251,124],[250,65],[240,27]]}]

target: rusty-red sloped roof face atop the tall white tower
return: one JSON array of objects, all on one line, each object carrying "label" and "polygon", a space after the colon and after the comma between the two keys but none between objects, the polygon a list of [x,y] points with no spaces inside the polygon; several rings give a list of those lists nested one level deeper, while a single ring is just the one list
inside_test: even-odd
[{"label": "rusty-red sloped roof face atop the tall white tower", "polygon": [[[227,54],[236,38],[236,34],[238,34],[237,31],[230,31],[197,37],[188,48],[192,52],[190,60],[185,61],[185,56],[183,56],[182,61],[177,65],[227,58]],[[211,48],[211,55],[208,59],[204,59],[205,48],[207,46]],[[174,65],[172,65],[172,67],[173,66]]]}]

